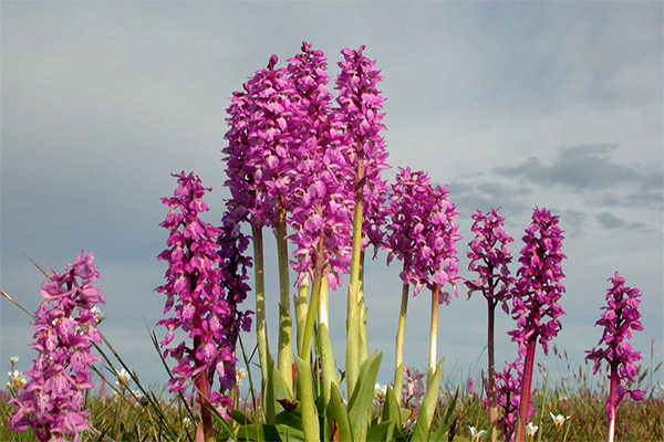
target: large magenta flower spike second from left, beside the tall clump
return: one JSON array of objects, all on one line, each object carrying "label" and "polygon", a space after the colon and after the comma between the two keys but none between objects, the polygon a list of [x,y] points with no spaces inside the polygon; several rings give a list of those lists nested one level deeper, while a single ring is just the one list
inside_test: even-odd
[{"label": "large magenta flower spike second from left, beside the tall clump", "polygon": [[[217,252],[217,241],[222,230],[205,223],[199,214],[209,210],[203,197],[206,189],[193,173],[174,175],[178,187],[174,197],[163,198],[168,206],[166,220],[160,224],[168,229],[168,249],[158,260],[168,262],[165,285],[156,288],[167,296],[164,313],[175,307],[175,316],[159,320],[168,333],[160,343],[167,347],[181,329],[193,341],[184,340],[174,348],[167,348],[165,356],[172,356],[177,365],[169,381],[170,391],[181,391],[187,381],[205,375],[211,385],[215,373],[220,387],[230,390],[235,385],[235,346],[237,327],[249,327],[249,322],[236,309],[237,301],[222,290],[226,269],[224,259]],[[227,260],[232,255],[227,256]],[[242,286],[241,286],[242,287]],[[222,415],[231,406],[228,397],[214,392],[209,402]]]}]

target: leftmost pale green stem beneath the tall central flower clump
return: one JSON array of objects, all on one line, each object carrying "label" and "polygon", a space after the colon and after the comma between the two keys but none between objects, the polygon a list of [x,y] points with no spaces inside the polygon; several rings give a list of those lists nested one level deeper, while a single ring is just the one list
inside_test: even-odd
[{"label": "leftmost pale green stem beneath the tall central flower clump", "polygon": [[256,283],[256,338],[258,341],[258,357],[260,360],[260,373],[263,382],[269,378],[269,352],[268,327],[266,324],[266,280],[264,259],[262,244],[262,228],[251,228],[253,236],[253,278]]}]

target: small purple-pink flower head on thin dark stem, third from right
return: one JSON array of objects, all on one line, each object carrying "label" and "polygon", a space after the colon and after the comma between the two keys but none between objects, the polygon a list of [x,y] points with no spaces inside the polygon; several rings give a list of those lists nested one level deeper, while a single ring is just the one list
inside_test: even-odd
[{"label": "small purple-pink flower head on thin dark stem, third from right", "polygon": [[492,305],[500,302],[505,313],[509,313],[506,302],[510,295],[509,287],[515,280],[509,274],[508,264],[512,257],[507,250],[507,244],[513,239],[502,230],[505,218],[500,217],[495,209],[486,214],[478,210],[473,215],[473,220],[470,230],[475,233],[475,238],[468,244],[470,248],[468,270],[477,272],[478,277],[475,281],[466,281],[466,286],[469,288],[468,297],[473,292],[481,291],[481,294],[494,303]]}]

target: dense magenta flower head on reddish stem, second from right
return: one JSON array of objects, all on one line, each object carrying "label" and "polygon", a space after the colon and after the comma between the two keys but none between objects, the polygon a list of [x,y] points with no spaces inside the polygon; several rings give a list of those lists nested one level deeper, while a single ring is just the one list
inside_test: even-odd
[{"label": "dense magenta flower head on reddish stem, second from right", "polygon": [[548,341],[561,328],[558,318],[564,311],[558,302],[564,293],[560,281],[564,277],[561,263],[567,257],[562,253],[562,240],[558,217],[536,208],[523,236],[521,267],[512,290],[512,317],[518,328],[508,335],[519,345],[520,352],[526,351],[528,340],[539,337],[544,354],[548,354]]}]

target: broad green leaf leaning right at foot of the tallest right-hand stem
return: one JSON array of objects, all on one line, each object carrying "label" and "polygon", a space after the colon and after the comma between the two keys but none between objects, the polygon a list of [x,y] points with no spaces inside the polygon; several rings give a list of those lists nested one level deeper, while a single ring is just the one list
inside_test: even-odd
[{"label": "broad green leaf leaning right at foot of the tallest right-hand stem", "polygon": [[374,400],[374,387],[383,354],[375,351],[366,358],[360,367],[360,377],[355,383],[355,390],[349,401],[349,418],[353,438],[356,442],[366,440],[366,431],[371,419],[371,411]]}]

